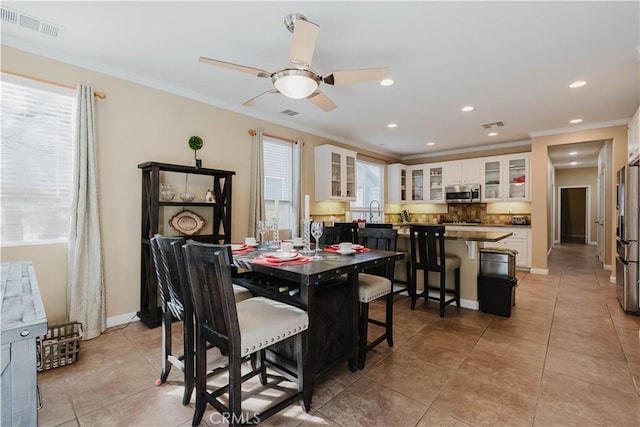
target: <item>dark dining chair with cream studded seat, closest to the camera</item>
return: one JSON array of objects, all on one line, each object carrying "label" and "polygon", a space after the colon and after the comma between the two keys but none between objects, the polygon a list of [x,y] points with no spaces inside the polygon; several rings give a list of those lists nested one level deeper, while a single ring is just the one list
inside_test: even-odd
[{"label": "dark dining chair with cream studded seat, closest to the camera", "polygon": [[[238,303],[233,295],[231,265],[228,257],[216,248],[204,244],[183,246],[188,282],[193,294],[196,315],[196,406],[193,425],[202,421],[207,404],[212,404],[231,425],[255,424],[302,400],[309,410],[310,399],[303,393],[309,370],[303,360],[309,317],[297,307],[264,297],[254,297]],[[282,373],[281,379],[295,380],[298,391],[254,414],[250,419],[242,413],[242,383],[254,376],[267,384],[265,350],[280,341],[291,339],[295,349],[295,373]],[[304,342],[303,342],[304,341]],[[215,390],[207,389],[207,344],[220,348],[229,358],[228,383]],[[242,375],[243,358],[256,354],[257,366]],[[274,367],[275,368],[275,367]],[[277,368],[276,368],[277,369]],[[270,375],[271,376],[271,375]],[[220,397],[228,393],[228,403]],[[256,398],[255,391],[252,398]]]}]

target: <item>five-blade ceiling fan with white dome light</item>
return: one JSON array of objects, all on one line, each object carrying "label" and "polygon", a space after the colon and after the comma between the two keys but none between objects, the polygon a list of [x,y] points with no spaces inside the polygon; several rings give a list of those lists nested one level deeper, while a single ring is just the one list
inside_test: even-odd
[{"label": "five-blade ceiling fan with white dome light", "polygon": [[321,76],[311,69],[313,52],[316,48],[318,30],[320,27],[309,22],[304,15],[291,13],[284,19],[287,29],[293,33],[289,50],[289,66],[276,72],[269,72],[258,68],[219,61],[217,59],[200,57],[199,61],[234,71],[251,74],[256,77],[271,78],[274,89],[251,98],[242,105],[251,106],[255,100],[266,94],[280,93],[293,99],[307,98],[312,104],[323,111],[331,111],[337,107],[324,93],[318,90],[321,82],[328,85],[381,81],[387,78],[388,68],[366,68],[359,70],[333,71]]}]

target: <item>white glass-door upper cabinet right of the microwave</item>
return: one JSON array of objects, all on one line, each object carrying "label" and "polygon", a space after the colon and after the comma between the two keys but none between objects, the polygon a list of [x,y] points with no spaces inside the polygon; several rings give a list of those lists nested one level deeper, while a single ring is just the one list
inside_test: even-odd
[{"label": "white glass-door upper cabinet right of the microwave", "polygon": [[480,159],[482,201],[529,201],[529,153]]}]

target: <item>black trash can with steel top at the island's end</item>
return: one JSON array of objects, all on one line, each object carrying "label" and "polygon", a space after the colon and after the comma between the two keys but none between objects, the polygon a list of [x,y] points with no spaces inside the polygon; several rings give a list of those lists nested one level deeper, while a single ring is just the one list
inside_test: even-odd
[{"label": "black trash can with steel top at the island's end", "polygon": [[478,301],[480,311],[511,316],[516,303],[515,259],[517,251],[504,248],[480,249]]}]

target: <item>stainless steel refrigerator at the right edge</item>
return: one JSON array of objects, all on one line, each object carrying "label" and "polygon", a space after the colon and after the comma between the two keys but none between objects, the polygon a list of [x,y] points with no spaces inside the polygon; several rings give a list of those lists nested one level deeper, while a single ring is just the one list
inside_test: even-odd
[{"label": "stainless steel refrigerator at the right edge", "polygon": [[640,166],[623,166],[616,186],[616,293],[622,309],[640,315]]}]

